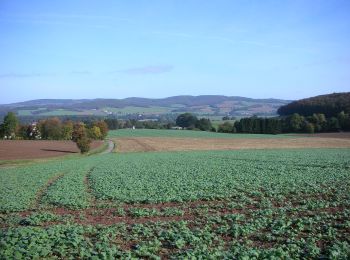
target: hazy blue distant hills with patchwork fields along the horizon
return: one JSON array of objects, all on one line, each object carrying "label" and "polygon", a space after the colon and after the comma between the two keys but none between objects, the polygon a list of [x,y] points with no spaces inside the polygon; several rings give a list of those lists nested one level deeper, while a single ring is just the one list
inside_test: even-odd
[{"label": "hazy blue distant hills with patchwork fields along the horizon", "polygon": [[125,99],[37,99],[0,105],[0,114],[15,111],[18,116],[158,116],[192,112],[202,116],[273,116],[290,101],[253,99],[219,95],[173,96],[160,99],[130,97]]}]

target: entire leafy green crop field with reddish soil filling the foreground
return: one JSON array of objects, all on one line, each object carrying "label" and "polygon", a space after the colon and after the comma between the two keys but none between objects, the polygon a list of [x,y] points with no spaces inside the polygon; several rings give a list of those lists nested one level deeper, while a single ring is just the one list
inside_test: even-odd
[{"label": "entire leafy green crop field with reddish soil filling the foreground", "polygon": [[348,259],[350,150],[114,153],[0,168],[0,259]]}]

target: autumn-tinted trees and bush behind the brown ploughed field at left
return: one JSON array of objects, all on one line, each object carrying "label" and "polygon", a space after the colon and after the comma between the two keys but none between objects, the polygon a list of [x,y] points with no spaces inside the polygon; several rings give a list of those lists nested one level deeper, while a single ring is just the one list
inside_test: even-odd
[{"label": "autumn-tinted trees and bush behind the brown ploughed field at left", "polygon": [[81,153],[90,150],[92,140],[103,140],[108,134],[105,121],[61,121],[47,118],[31,124],[20,124],[15,113],[9,112],[0,125],[0,136],[8,140],[72,140]]}]

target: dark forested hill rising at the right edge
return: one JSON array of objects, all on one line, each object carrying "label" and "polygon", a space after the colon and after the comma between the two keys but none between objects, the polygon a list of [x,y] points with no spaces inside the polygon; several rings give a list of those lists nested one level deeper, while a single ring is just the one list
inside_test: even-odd
[{"label": "dark forested hill rising at the right edge", "polygon": [[314,113],[322,113],[326,117],[337,116],[341,111],[350,113],[350,92],[305,98],[281,106],[277,110],[281,116],[294,113],[302,116],[311,116]]}]

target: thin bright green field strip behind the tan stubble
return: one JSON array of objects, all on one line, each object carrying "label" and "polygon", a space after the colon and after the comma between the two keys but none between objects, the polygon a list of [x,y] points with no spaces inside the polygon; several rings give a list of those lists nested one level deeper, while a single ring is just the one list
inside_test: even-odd
[{"label": "thin bright green field strip behind the tan stubble", "polygon": [[177,138],[292,138],[288,134],[226,134],[207,131],[163,130],[163,129],[119,129],[109,131],[109,138],[123,137],[177,137]]}]

